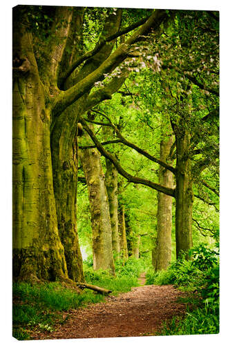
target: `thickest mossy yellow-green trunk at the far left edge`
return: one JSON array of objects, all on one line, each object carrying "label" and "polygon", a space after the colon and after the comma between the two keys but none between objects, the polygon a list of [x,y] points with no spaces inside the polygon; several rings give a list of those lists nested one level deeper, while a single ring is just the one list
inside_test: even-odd
[{"label": "thickest mossy yellow-green trunk at the far left edge", "polygon": [[[17,15],[17,14],[16,14]],[[13,75],[13,276],[67,278],[59,239],[50,155],[50,114],[45,106],[31,35],[13,28],[13,54],[29,61]]]}]

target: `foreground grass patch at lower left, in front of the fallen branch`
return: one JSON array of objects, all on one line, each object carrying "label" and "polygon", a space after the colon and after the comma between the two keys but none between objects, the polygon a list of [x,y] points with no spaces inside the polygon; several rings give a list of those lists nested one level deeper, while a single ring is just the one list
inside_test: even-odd
[{"label": "foreground grass patch at lower left, in front of the fallen branch", "polygon": [[104,297],[84,290],[79,295],[58,282],[13,285],[13,337],[30,339],[32,331],[55,331],[55,325],[66,322],[60,312],[101,302]]}]

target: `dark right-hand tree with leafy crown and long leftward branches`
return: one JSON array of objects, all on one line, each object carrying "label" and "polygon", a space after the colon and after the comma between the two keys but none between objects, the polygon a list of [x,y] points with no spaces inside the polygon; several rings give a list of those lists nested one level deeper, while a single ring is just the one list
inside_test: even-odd
[{"label": "dark right-hand tree with leafy crown and long leftward branches", "polygon": [[[199,26],[198,22],[202,23],[202,26]],[[188,42],[191,44],[189,45]],[[173,43],[176,43],[175,48]],[[159,164],[162,169],[173,173],[175,188],[131,175],[88,130],[86,120],[81,121],[95,146],[106,159],[111,160],[119,174],[129,182],[149,186],[159,193],[175,198],[175,237],[177,257],[179,257],[181,252],[187,252],[193,246],[193,184],[200,184],[204,170],[210,168],[210,171],[218,171],[218,20],[216,16],[213,17],[211,13],[204,11],[191,12],[189,17],[187,12],[179,12],[165,31],[163,28],[161,32],[153,35],[153,55],[153,63],[148,61],[146,66],[153,69],[151,78],[154,75],[154,82],[151,79],[147,93],[146,90],[138,88],[142,90],[139,103],[142,97],[145,97],[145,106],[153,108],[152,114],[158,112],[165,117],[166,112],[170,117],[175,135],[171,152],[175,166],[171,165],[173,161],[171,164],[166,163],[128,141],[105,114],[104,123],[101,121],[100,124],[111,126],[122,144]],[[130,90],[121,92],[133,96]],[[215,126],[212,126],[212,121]],[[205,179],[202,184],[206,187],[209,185]],[[218,193],[215,188],[213,193]],[[195,197],[200,196],[195,195]]]}]

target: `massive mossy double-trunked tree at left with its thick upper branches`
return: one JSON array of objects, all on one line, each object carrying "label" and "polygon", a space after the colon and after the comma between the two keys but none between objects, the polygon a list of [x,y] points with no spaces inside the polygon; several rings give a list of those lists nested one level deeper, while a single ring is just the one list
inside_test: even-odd
[{"label": "massive mossy double-trunked tree at left with its thick upper branches", "polygon": [[[93,88],[131,58],[137,41],[149,30],[157,30],[166,18],[164,10],[155,10],[119,30],[122,10],[55,6],[13,9],[16,279],[83,279],[75,219],[78,118],[119,89],[125,72],[112,75],[105,86]],[[86,43],[83,23],[95,20],[98,24],[99,19],[104,26],[99,27],[101,35],[96,35],[92,49]],[[135,28],[113,50],[115,39]]]}]

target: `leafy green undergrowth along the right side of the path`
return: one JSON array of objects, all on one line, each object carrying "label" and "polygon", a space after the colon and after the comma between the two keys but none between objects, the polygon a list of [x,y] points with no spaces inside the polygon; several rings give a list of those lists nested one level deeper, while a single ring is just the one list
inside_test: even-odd
[{"label": "leafy green undergrowth along the right side of the path", "polygon": [[146,284],[174,286],[192,293],[186,317],[174,317],[164,324],[159,335],[219,333],[219,258],[218,250],[204,244],[193,248],[191,260],[180,257],[167,270],[148,270]]}]

